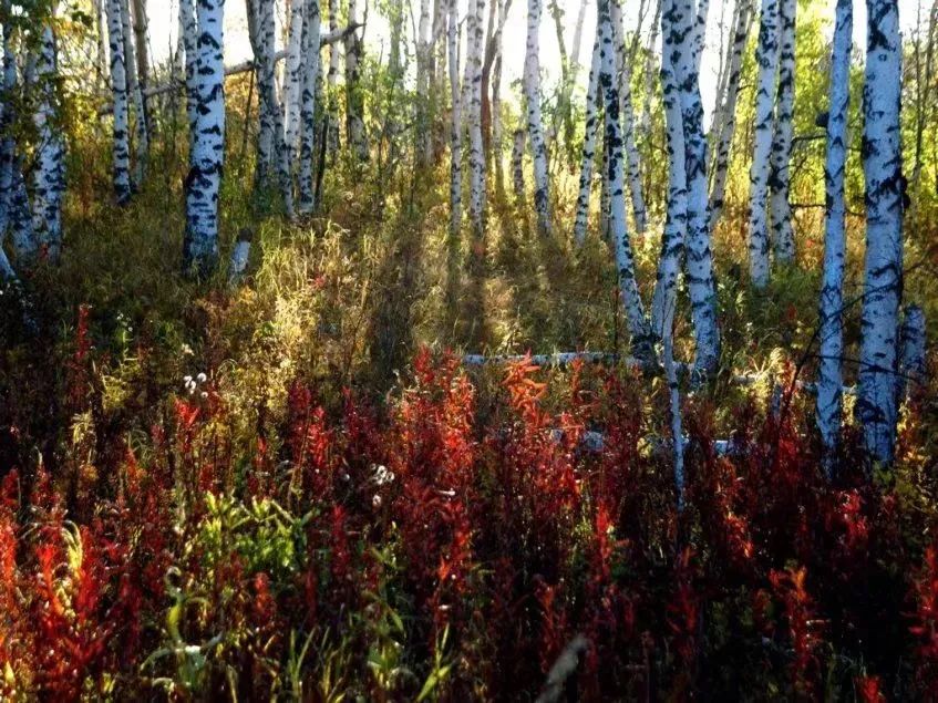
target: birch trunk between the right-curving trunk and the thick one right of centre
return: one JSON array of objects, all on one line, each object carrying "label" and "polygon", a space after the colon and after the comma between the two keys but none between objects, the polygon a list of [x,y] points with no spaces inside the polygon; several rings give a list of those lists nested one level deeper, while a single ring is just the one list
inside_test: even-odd
[{"label": "birch trunk between the right-curving trunk and the thick one right of centre", "polygon": [[679,33],[669,24],[671,19],[670,13],[662,15],[664,51],[661,53],[661,87],[668,135],[668,213],[661,235],[658,279],[651,301],[651,329],[662,340],[672,334],[674,328],[678,277],[684,258],[684,231],[688,221],[688,174],[681,89],[671,63],[672,56],[680,55],[681,46]]}]

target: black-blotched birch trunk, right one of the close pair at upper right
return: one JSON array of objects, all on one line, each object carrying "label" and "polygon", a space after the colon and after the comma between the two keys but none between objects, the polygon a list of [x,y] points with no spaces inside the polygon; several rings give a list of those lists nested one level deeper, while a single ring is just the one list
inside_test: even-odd
[{"label": "black-blotched birch trunk, right one of the close pair at upper right", "polygon": [[775,261],[791,263],[795,258],[795,235],[792,229],[792,208],[788,204],[792,161],[793,118],[795,111],[795,13],[797,0],[781,0],[779,19],[781,53],[779,54],[779,102],[775,107],[775,136],[770,158],[772,236]]}]

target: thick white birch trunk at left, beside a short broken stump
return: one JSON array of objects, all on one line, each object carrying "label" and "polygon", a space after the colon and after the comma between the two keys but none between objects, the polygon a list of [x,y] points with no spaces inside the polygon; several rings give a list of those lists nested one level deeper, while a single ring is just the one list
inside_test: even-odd
[{"label": "thick white birch trunk at left, beside a short broken stump", "polygon": [[218,194],[225,164],[225,0],[198,0],[197,105],[186,178],[185,269],[208,276],[218,261]]}]

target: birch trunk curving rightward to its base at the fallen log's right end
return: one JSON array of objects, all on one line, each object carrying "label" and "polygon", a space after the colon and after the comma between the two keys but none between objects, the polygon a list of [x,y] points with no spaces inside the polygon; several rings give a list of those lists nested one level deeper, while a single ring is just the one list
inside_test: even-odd
[{"label": "birch trunk curving rightward to its base at the fallen log's right end", "polygon": [[599,0],[599,87],[602,91],[602,104],[606,113],[606,134],[609,145],[609,227],[616,248],[619,294],[622,298],[626,320],[631,333],[631,350],[637,359],[652,361],[654,345],[645,307],[638,290],[635,275],[635,260],[628,223],[626,219],[625,195],[625,154],[622,151],[621,127],[619,125],[619,94],[616,81],[615,54],[619,42],[615,40],[612,21],[609,13],[609,0]]}]

